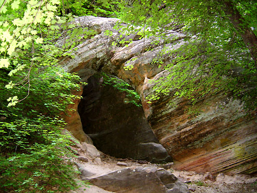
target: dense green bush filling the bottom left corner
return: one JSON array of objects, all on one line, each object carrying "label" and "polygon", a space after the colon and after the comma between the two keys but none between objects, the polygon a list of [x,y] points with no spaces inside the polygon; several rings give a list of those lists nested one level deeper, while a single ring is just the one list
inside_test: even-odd
[{"label": "dense green bush filling the bottom left corner", "polygon": [[67,157],[71,153],[67,136],[61,134],[61,120],[38,116],[14,122],[0,122],[0,189],[4,192],[61,192],[78,185],[77,172]]}]

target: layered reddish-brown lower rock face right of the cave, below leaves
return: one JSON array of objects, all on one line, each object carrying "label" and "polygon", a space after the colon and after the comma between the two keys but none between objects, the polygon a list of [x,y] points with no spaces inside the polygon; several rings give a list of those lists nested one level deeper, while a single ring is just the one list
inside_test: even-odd
[{"label": "layered reddish-brown lower rock face right of the cave, below leaves", "polygon": [[[174,168],[227,174],[256,172],[256,122],[255,118],[239,118],[243,114],[239,101],[226,100],[222,94],[212,96],[206,99],[208,106],[199,102],[200,115],[190,117],[184,113],[188,108],[185,100],[175,99],[177,107],[167,106],[165,100],[170,99],[151,105],[148,120],[172,155]],[[220,101],[222,107],[217,105]]]}]

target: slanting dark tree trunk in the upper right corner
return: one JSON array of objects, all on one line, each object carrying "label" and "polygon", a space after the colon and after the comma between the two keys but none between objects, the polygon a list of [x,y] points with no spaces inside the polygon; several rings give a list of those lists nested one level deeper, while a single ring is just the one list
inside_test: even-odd
[{"label": "slanting dark tree trunk in the upper right corner", "polygon": [[222,2],[225,5],[224,12],[229,16],[230,22],[233,24],[234,28],[243,39],[244,44],[249,49],[250,55],[255,63],[255,68],[257,68],[257,37],[232,2],[224,0]]}]

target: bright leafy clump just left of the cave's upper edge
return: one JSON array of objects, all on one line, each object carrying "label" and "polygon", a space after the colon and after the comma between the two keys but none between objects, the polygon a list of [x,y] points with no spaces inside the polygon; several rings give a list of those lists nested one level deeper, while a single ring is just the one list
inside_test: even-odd
[{"label": "bright leafy clump just left of the cave's upper edge", "polygon": [[[12,95],[16,95],[20,104],[14,108],[2,108],[5,111],[22,112],[21,116],[30,116],[30,114],[42,113],[48,116],[58,115],[60,111],[65,111],[67,104],[70,104],[77,96],[70,93],[72,89],[78,89],[79,77],[75,74],[64,72],[58,67],[28,68],[30,75],[27,81],[29,84],[24,85],[24,74],[28,74],[26,69],[17,73],[16,76],[9,77],[12,82],[17,81],[12,89],[4,87],[5,95],[1,95],[1,100],[7,100]],[[4,85],[4,82],[2,82]],[[8,84],[7,84],[8,85]],[[10,105],[9,105],[10,106]],[[33,112],[30,112],[33,109]],[[18,114],[18,113],[17,113]]]}]

